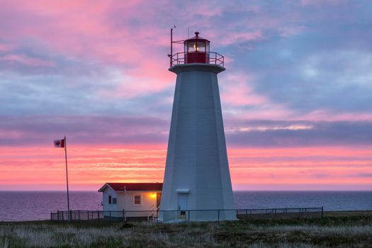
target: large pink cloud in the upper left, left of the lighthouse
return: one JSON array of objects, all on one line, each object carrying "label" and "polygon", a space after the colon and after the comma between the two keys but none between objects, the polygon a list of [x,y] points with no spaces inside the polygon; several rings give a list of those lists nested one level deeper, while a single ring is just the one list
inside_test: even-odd
[{"label": "large pink cloud in the upper left, left of the lighthouse", "polygon": [[[0,32],[0,39],[9,40],[16,48],[23,45],[20,41],[26,38],[54,54],[92,60],[102,67],[119,69],[131,84],[126,84],[123,79],[123,89],[116,91],[120,96],[137,96],[145,94],[144,90],[147,94],[161,91],[169,86],[172,77],[167,72],[169,60],[166,56],[168,49],[165,48],[168,47],[169,33],[164,33],[157,26],[147,25],[154,18],[151,8],[143,9],[142,26],[128,24],[138,18],[137,9],[142,9],[140,5],[141,1],[94,4],[7,2],[3,5],[9,14],[4,16],[7,18],[7,30],[6,35]],[[84,14],[81,14],[83,10]],[[164,60],[157,61],[162,54]],[[26,55],[6,55],[2,60],[52,66],[52,62]]]}]

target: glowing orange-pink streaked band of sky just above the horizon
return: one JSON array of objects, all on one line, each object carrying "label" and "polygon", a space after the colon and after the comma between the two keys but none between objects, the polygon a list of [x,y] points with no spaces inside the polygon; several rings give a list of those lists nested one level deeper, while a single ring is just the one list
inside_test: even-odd
[{"label": "glowing orange-pink streaked band of sky just above the horizon", "polygon": [[[167,151],[141,147],[69,147],[72,190],[108,181],[162,181]],[[63,190],[64,151],[52,147],[0,149],[0,190]],[[372,189],[371,147],[230,149],[235,189]]]}]

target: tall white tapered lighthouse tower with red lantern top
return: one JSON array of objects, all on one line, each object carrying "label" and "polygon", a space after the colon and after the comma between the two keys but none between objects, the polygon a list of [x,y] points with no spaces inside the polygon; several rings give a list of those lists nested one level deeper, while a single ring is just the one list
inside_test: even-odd
[{"label": "tall white tapered lighthouse tower with red lantern top", "polygon": [[223,56],[196,32],[170,55],[177,74],[159,220],[235,220],[217,74]]}]

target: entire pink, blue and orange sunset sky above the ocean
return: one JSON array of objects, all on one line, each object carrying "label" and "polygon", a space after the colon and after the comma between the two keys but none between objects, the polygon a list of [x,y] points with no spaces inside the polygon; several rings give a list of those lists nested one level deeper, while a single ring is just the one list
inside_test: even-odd
[{"label": "entire pink, blue and orange sunset sky above the ocean", "polygon": [[161,182],[174,25],[225,56],[234,190],[372,190],[369,0],[0,6],[0,191],[64,190],[64,135],[72,191]]}]

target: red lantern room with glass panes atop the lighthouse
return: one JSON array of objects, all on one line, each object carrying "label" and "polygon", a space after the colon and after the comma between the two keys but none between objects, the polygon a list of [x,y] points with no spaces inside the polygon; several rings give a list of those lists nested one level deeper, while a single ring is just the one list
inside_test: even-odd
[{"label": "red lantern room with glass panes atop the lighthouse", "polygon": [[193,38],[184,41],[185,64],[209,63],[209,40],[201,38],[199,32],[195,32]]}]

